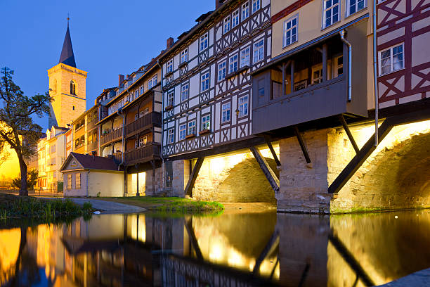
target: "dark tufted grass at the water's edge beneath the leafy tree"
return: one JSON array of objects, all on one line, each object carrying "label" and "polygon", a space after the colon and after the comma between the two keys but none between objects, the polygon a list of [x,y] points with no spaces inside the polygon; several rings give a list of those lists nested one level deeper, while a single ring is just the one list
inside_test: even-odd
[{"label": "dark tufted grass at the water's edge beneath the leafy tree", "polygon": [[72,202],[72,200],[48,200],[30,196],[13,196],[0,193],[0,219],[32,218],[44,222],[56,222],[58,220],[91,215],[93,208],[91,203],[84,207]]}]

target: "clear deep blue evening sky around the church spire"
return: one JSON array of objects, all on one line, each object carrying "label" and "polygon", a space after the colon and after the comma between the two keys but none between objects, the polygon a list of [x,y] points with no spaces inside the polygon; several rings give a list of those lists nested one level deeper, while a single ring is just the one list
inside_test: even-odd
[{"label": "clear deep blue evening sky around the church spire", "polygon": [[[0,0],[0,68],[15,70],[27,96],[48,90],[47,70],[58,63],[70,13],[77,68],[86,70],[86,108],[103,88],[129,74],[176,41],[215,0]],[[6,27],[6,29],[5,29]],[[46,130],[48,118],[36,122]]]}]

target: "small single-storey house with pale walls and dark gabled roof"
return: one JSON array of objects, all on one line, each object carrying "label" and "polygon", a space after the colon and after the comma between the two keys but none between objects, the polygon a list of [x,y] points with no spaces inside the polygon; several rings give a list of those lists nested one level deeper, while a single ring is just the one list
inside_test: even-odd
[{"label": "small single-storey house with pale walls and dark gabled roof", "polygon": [[64,196],[124,196],[124,171],[113,158],[70,153],[60,172]]}]

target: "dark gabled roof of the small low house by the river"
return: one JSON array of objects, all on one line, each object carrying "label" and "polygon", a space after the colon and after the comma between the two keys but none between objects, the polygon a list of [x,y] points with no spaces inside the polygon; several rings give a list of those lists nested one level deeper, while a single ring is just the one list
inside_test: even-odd
[{"label": "dark gabled roof of the small low house by the river", "polygon": [[74,158],[82,165],[84,170],[118,170],[118,165],[113,158],[103,158],[96,155],[82,155],[81,153],[70,153],[60,168],[60,172],[65,170],[70,160]]}]

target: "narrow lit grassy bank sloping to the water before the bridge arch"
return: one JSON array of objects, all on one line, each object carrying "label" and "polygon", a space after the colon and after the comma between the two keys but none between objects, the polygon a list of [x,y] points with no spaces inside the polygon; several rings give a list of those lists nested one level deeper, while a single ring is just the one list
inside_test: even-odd
[{"label": "narrow lit grassy bank sloping to the water before the bridge arch", "polygon": [[151,197],[151,196],[130,196],[121,198],[92,198],[99,200],[112,201],[126,205],[134,205],[140,208],[145,208],[149,212],[161,213],[183,213],[183,214],[199,214],[199,213],[218,213],[224,210],[221,203],[214,201],[200,201],[190,198],[178,197]]}]

